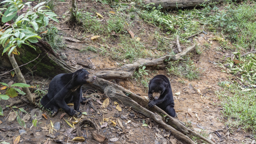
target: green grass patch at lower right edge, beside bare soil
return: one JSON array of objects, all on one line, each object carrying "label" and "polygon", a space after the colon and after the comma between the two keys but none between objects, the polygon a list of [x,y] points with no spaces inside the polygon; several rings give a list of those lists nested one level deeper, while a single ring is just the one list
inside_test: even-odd
[{"label": "green grass patch at lower right edge, beside bare soil", "polygon": [[228,123],[235,127],[245,130],[251,130],[256,134],[256,92],[244,92],[240,86],[235,84],[225,85],[226,82],[220,82],[219,85],[224,88],[217,92],[223,107],[223,114],[228,117]]}]

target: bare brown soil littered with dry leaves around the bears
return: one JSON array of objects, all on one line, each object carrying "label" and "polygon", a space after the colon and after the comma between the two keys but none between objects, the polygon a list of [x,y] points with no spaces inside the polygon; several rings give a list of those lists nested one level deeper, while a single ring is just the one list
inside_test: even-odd
[{"label": "bare brown soil littered with dry leaves around the bears", "polygon": [[[57,10],[55,11],[57,15],[63,15],[66,11],[69,10],[69,7],[71,5],[70,0],[68,0],[69,4],[61,4],[57,5]],[[78,9],[83,8],[85,11],[90,11],[90,9],[95,9],[97,11],[100,11],[101,14],[104,16],[104,18],[107,19],[107,15],[104,15],[104,12],[113,11],[112,8],[110,8],[108,5],[102,5],[100,3],[96,2],[82,2],[78,1]],[[64,21],[61,19],[61,21]],[[77,30],[73,30],[71,27],[69,27],[67,24],[60,22],[60,24],[57,24],[58,27],[62,28],[62,32],[64,33],[64,37],[73,37],[74,33],[76,33],[76,37],[79,36],[79,32]],[[150,36],[152,33],[154,33],[155,27],[150,26],[145,23],[136,22],[135,27],[133,27],[131,30],[133,32],[136,32],[137,35],[139,35],[141,27],[147,27],[144,29],[144,33],[146,35]],[[78,33],[78,34],[77,34]],[[81,32],[82,35],[82,32]],[[89,34],[88,34],[89,35]],[[147,43],[147,47],[155,47],[156,41],[147,39],[145,35],[139,36],[143,42]],[[199,34],[197,38],[194,38],[194,40],[198,43],[199,47],[200,45],[203,45],[204,43],[210,43],[210,41],[207,40],[207,38],[214,37],[214,35],[211,32],[208,32],[208,34]],[[89,39],[89,38],[88,38]],[[70,60],[74,61],[80,61],[84,63],[88,63],[87,60],[91,59],[91,61],[96,66],[96,69],[88,69],[88,71],[93,74],[97,71],[101,71],[102,69],[107,68],[113,68],[117,67],[119,63],[114,61],[110,57],[102,57],[98,53],[94,52],[87,52],[82,53],[79,52],[83,47],[88,45],[93,45],[95,48],[100,47],[100,45],[96,44],[95,42],[92,42],[88,39],[84,39],[84,43],[75,43],[75,42],[69,42],[65,41],[66,45],[73,45],[76,47],[76,49],[70,49],[65,48],[62,50],[67,56],[67,62],[70,63]],[[100,40],[97,41],[98,43],[101,43]],[[175,75],[167,75],[166,69],[157,69],[156,72],[152,73],[155,68],[147,68],[149,70],[148,78],[153,78],[157,74],[163,74],[167,75],[168,78],[170,78],[171,86],[173,90],[173,94],[180,92],[180,95],[174,94],[174,103],[175,103],[175,111],[177,112],[177,118],[185,123],[188,124],[188,122],[191,122],[190,127],[194,129],[195,131],[198,131],[200,133],[202,127],[205,129],[203,130],[206,134],[209,134],[209,138],[215,141],[216,143],[250,143],[251,140],[249,139],[251,135],[249,133],[246,133],[244,130],[238,130],[237,128],[231,128],[226,125],[227,118],[223,116],[222,114],[222,106],[219,105],[219,99],[216,95],[216,91],[220,91],[222,88],[218,86],[219,81],[225,81],[229,80],[230,78],[233,78],[232,75],[221,72],[221,67],[216,65],[216,63],[222,62],[222,57],[227,57],[231,53],[229,50],[226,49],[218,49],[220,45],[216,41],[211,41],[211,46],[208,50],[204,50],[204,52],[201,55],[196,54],[195,51],[193,51],[190,55],[192,56],[192,60],[194,61],[196,67],[200,69],[200,79],[195,81],[189,81],[185,78],[181,78]],[[113,44],[115,45],[115,44]],[[189,45],[189,44],[188,44]],[[188,46],[186,45],[186,46]],[[185,45],[181,45],[182,48],[185,48]],[[78,65],[76,63],[73,64],[77,69],[84,68],[81,65]],[[33,80],[32,77],[25,77],[26,80]],[[15,78],[10,78],[10,76],[4,75],[1,77],[1,82],[3,81],[16,81]],[[179,82],[180,80],[186,81],[186,83]],[[42,79],[40,77],[34,77],[34,85],[35,84],[41,84],[41,86],[44,85],[43,89],[46,89],[49,85],[49,80]],[[140,94],[142,97],[147,96],[147,89],[145,89],[141,84],[134,81],[133,79],[127,79],[127,80],[112,80],[113,82],[119,84],[120,86],[131,90],[134,93]],[[204,94],[204,97],[201,98],[200,95],[198,95],[190,86],[189,84],[192,84],[195,89],[200,90],[201,93]],[[1,91],[2,93],[3,91]],[[11,100],[15,100],[18,98],[12,98]],[[105,98],[101,98],[100,101],[103,102]],[[9,100],[9,101],[11,101]],[[7,102],[6,102],[7,103]],[[153,144],[153,143],[175,143],[175,139],[173,139],[172,136],[170,137],[164,137],[168,132],[165,132],[164,129],[158,127],[158,125],[155,125],[153,121],[150,120],[150,118],[144,117],[141,114],[138,114],[135,111],[132,111],[129,106],[122,105],[121,102],[118,102],[119,105],[122,107],[122,111],[118,111],[115,109],[114,102],[112,101],[110,105],[108,105],[107,109],[100,108],[100,104],[95,101],[90,101],[93,106],[89,106],[88,104],[81,105],[80,110],[86,111],[87,116],[85,116],[84,119],[88,119],[92,121],[94,124],[96,124],[95,130],[84,130],[82,129],[83,136],[85,138],[85,142],[69,142],[69,143],[98,143],[96,142],[92,136],[91,133],[99,133],[101,135],[104,135],[108,139],[111,138],[119,138],[116,142],[107,141],[106,143],[138,143],[138,144]],[[3,104],[3,101],[1,100],[1,105]],[[18,106],[20,108],[24,108],[27,112],[30,112],[33,107],[30,105],[20,105]],[[19,134],[19,129],[25,129],[21,128],[21,126],[17,123],[16,120],[9,122],[8,121],[8,114],[9,111],[4,111],[4,117],[1,116],[0,120],[3,122],[0,124],[0,138],[4,140],[8,140],[9,138],[13,138],[13,136]],[[60,111],[55,117],[49,117],[47,114],[48,120],[45,118],[42,118],[38,120],[37,127],[32,127],[27,133],[21,135],[20,143],[24,144],[39,144],[39,143],[45,143],[45,141],[48,141],[48,137],[46,135],[49,135],[49,127],[50,127],[50,120],[54,123],[60,122],[61,130],[58,130],[56,133],[53,131],[53,135],[56,135],[57,138],[52,139],[51,143],[56,143],[53,140],[63,140],[64,143],[67,143],[68,140],[71,140],[73,137],[76,136],[76,133],[73,133],[73,135],[68,135],[67,131],[70,131],[70,126],[67,125],[67,123],[64,122],[63,119],[59,119],[60,115],[63,113],[63,111]],[[196,115],[198,117],[196,117]],[[25,113],[21,112],[21,117],[24,117]],[[117,119],[123,123],[123,127],[125,128],[125,132],[121,132],[119,129],[115,128],[112,124],[112,122],[108,122],[107,127],[99,128],[99,123],[102,122],[103,118],[113,117],[113,121],[117,122]],[[128,117],[128,118],[127,118]],[[69,119],[69,116],[65,115],[65,119]],[[131,123],[128,123],[125,125],[125,123],[130,120],[132,120]],[[73,120],[72,120],[73,121]],[[147,124],[151,124],[152,128],[150,127],[143,127],[143,121]],[[26,129],[28,130],[29,127],[32,125],[32,119],[28,120],[26,122]],[[200,128],[199,128],[199,127]],[[47,129],[42,129],[42,127],[47,127]],[[79,127],[79,124],[75,125],[76,129]],[[120,127],[120,126],[119,126]],[[218,130],[218,133],[222,136],[222,141],[220,141],[220,138],[218,135],[216,135],[215,131]],[[202,132],[202,133],[204,133]],[[160,136],[159,136],[159,135]],[[7,136],[8,135],[8,136]],[[12,141],[9,141],[10,143],[13,143]],[[198,143],[202,143],[202,141],[197,141]]]}]

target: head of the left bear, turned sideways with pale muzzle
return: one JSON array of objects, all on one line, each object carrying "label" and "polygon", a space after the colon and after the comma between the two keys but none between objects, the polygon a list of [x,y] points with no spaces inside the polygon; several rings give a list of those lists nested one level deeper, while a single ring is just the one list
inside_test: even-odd
[{"label": "head of the left bear, turned sideways with pale muzzle", "polygon": [[96,76],[91,75],[87,70],[85,69],[79,69],[76,72],[73,73],[73,80],[79,84],[83,85],[86,83],[93,83],[96,80]]}]

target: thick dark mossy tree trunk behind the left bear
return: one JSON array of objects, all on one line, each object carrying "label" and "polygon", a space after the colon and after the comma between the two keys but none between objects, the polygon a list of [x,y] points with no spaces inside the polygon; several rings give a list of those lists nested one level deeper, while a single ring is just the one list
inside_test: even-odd
[{"label": "thick dark mossy tree trunk behind the left bear", "polygon": [[[36,60],[21,67],[23,74],[33,71],[33,74],[39,76],[54,77],[60,73],[69,73],[76,70],[70,64],[63,61],[47,42],[41,39],[38,40],[39,42],[32,44],[36,51],[27,45],[22,45],[21,48],[17,49],[20,52],[19,56],[15,56],[18,65],[32,61],[40,54]],[[11,67],[7,55],[0,57],[0,66]]]}]

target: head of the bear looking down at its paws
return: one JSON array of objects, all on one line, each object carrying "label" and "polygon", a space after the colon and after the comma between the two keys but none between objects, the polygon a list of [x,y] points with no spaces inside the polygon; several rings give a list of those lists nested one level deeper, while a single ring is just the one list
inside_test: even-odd
[{"label": "head of the bear looking down at its paws", "polygon": [[167,86],[168,83],[162,81],[161,79],[152,79],[149,82],[149,89],[154,99],[159,99],[161,94],[163,94],[164,91],[166,90]]}]

